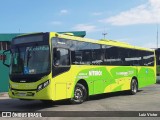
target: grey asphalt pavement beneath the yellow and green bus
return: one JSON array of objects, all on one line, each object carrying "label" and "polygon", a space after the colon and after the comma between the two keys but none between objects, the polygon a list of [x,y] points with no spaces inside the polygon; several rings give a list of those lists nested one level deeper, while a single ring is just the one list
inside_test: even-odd
[{"label": "grey asphalt pavement beneath the yellow and green bus", "polygon": [[[0,94],[0,111],[35,111],[35,112],[52,112],[60,111],[160,111],[160,84],[154,84],[139,90],[136,95],[129,95],[127,92],[107,93],[103,95],[91,96],[88,101],[83,104],[72,105],[68,101],[56,101],[52,105],[46,105],[41,101],[22,101],[18,99],[10,99],[7,93]],[[93,114],[94,114],[93,112]],[[92,113],[92,112],[91,112]],[[159,112],[160,113],[160,112]],[[61,114],[61,115],[62,115]],[[63,115],[62,115],[63,116]],[[87,119],[91,119],[88,117]],[[101,119],[105,119],[100,117]],[[107,117],[109,119],[110,117]],[[131,119],[134,119],[132,117]],[[136,119],[151,119],[150,117],[136,117]],[[1,118],[0,118],[1,119]],[[4,118],[5,119],[5,118]],[[13,118],[14,119],[14,118]],[[12,120],[13,120],[12,119]],[[28,119],[28,118],[25,118]],[[30,118],[31,119],[31,118]],[[43,118],[41,118],[43,119]],[[51,119],[50,117],[47,119]],[[57,120],[73,119],[72,117],[54,117]],[[86,119],[78,117],[76,119]],[[95,119],[95,118],[94,118]],[[111,117],[110,119],[114,119]],[[116,117],[121,120],[122,117]],[[127,119],[125,117],[125,119]],[[159,119],[153,117],[152,119]],[[34,119],[35,120],[35,119]],[[105,119],[106,120],[106,119]]]}]

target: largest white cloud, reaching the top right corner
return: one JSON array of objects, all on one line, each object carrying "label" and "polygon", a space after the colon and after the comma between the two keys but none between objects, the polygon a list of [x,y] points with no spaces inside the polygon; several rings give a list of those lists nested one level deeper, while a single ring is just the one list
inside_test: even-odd
[{"label": "largest white cloud, reaching the top right corner", "polygon": [[160,0],[148,0],[146,4],[139,5],[118,15],[99,20],[112,25],[133,25],[160,23]]}]

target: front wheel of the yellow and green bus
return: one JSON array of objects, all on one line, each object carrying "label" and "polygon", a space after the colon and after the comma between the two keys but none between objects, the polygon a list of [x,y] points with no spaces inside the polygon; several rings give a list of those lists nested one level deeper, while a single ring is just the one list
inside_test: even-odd
[{"label": "front wheel of the yellow and green bus", "polygon": [[87,90],[84,85],[77,83],[74,89],[74,97],[70,99],[73,104],[83,103],[87,98]]}]

